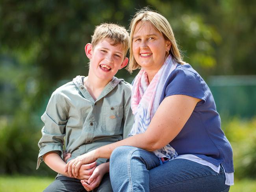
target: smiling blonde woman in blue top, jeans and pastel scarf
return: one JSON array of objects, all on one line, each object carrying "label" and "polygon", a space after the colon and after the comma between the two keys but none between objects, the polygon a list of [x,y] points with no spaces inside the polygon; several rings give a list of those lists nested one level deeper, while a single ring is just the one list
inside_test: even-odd
[{"label": "smiling blonde woman in blue top, jeans and pastel scarf", "polygon": [[77,157],[67,170],[75,174],[110,157],[114,191],[228,191],[232,148],[210,89],[182,61],[169,22],[143,9],[130,31],[128,70],[141,68],[132,93],[133,136]]}]

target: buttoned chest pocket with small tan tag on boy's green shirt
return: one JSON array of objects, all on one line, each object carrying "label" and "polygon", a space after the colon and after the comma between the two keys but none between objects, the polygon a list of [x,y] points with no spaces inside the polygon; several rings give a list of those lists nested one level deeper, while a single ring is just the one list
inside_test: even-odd
[{"label": "buttoned chest pocket with small tan tag on boy's green shirt", "polygon": [[120,130],[124,116],[123,106],[106,106],[104,112],[104,129],[107,132],[115,133]]}]

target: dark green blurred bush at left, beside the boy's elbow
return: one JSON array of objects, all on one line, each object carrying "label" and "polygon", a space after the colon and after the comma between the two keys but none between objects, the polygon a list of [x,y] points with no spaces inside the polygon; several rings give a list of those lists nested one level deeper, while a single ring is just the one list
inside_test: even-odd
[{"label": "dark green blurred bush at left, beside the boy's elbow", "polygon": [[44,163],[35,170],[40,131],[33,124],[33,117],[17,113],[13,122],[0,122],[0,174],[56,175]]}]

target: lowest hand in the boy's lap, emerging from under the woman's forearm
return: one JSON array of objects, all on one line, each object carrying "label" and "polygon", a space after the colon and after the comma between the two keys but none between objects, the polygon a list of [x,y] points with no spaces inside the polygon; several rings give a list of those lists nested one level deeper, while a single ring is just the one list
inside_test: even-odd
[{"label": "lowest hand in the boy's lap, emerging from under the woman's forearm", "polygon": [[109,162],[102,163],[95,168],[93,174],[88,180],[81,180],[81,183],[85,190],[91,191],[100,185],[102,177],[109,171]]}]

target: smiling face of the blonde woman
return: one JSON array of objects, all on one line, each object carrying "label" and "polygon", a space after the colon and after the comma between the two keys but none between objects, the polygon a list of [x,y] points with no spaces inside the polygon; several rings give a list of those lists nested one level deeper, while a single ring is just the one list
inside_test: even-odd
[{"label": "smiling face of the blonde woman", "polygon": [[141,22],[136,25],[132,51],[137,63],[145,70],[159,70],[170,47],[171,42],[165,40],[149,22],[145,22],[142,26]]}]

